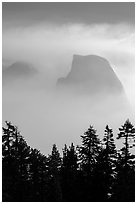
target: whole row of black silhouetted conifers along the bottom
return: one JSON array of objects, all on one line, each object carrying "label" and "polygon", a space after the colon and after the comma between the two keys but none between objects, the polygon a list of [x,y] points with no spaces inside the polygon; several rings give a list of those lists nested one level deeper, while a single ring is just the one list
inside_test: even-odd
[{"label": "whole row of black silhouetted conifers along the bottom", "polygon": [[[135,128],[129,120],[119,128],[116,149],[107,125],[101,141],[93,126],[61,157],[54,144],[45,156],[27,145],[18,128],[6,121],[2,135],[2,199],[7,202],[135,201]],[[132,149],[132,151],[130,151]],[[132,152],[132,153],[131,153]]]}]

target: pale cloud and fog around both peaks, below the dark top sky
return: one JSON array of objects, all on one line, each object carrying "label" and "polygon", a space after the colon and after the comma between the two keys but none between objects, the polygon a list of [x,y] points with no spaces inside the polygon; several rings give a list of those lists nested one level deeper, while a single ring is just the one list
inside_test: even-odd
[{"label": "pale cloud and fog around both peaks, below the dark top sky", "polygon": [[77,143],[79,135],[92,122],[95,128],[103,131],[106,123],[118,128],[127,117],[134,118],[133,112],[126,109],[110,113],[106,102],[93,106],[85,98],[58,96],[45,89],[47,80],[55,84],[58,78],[68,74],[73,54],[94,54],[110,62],[134,106],[133,27],[126,24],[41,24],[5,28],[2,43],[6,66],[25,61],[39,72],[38,77],[25,82],[25,86],[3,86],[3,121],[11,120],[19,125],[30,145],[49,152],[46,148],[51,148],[55,142],[60,148],[70,141]]}]

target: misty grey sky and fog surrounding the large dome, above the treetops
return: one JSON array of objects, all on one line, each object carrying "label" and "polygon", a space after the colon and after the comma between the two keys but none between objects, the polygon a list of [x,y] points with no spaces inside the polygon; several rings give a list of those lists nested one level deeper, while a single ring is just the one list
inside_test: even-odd
[{"label": "misty grey sky and fog surrounding the large dome, above the treetops", "polygon": [[[134,123],[134,6],[2,3],[2,62],[8,69],[3,74],[3,121],[11,120],[32,147],[46,153],[53,143],[59,148],[77,144],[91,123],[100,134],[106,123],[115,130],[127,117]],[[92,104],[88,96],[58,94],[56,82],[69,73],[74,54],[106,58],[131,109],[119,110],[115,102],[106,109],[106,101]]]}]

